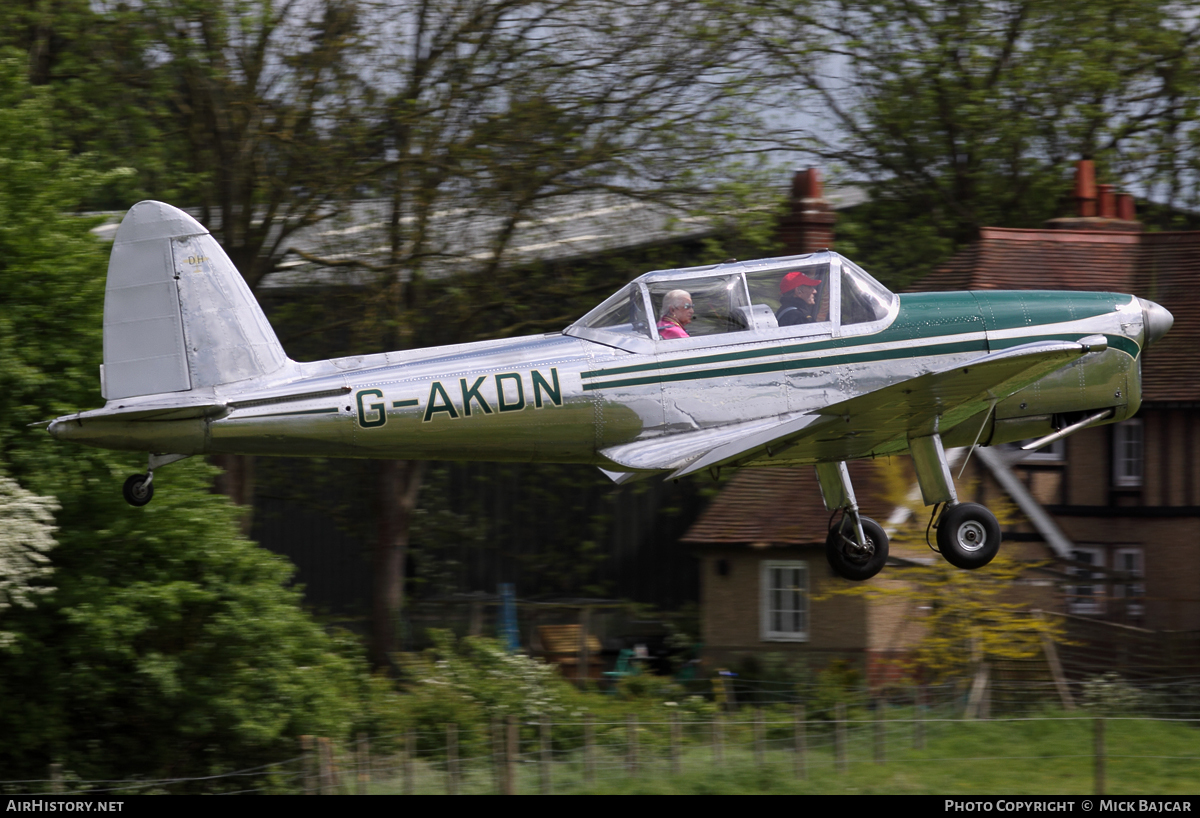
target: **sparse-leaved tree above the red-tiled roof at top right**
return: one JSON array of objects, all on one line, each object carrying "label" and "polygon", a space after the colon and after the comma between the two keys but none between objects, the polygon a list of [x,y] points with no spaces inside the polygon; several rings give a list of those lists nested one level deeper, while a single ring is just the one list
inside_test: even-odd
[{"label": "sparse-leaved tree above the red-tiled roof at top right", "polygon": [[[1103,0],[767,0],[761,37],[812,126],[808,148],[865,184],[839,243],[900,285],[986,224],[1063,215],[1070,166],[1196,194],[1200,19]],[[814,48],[797,54],[804,36]]]}]

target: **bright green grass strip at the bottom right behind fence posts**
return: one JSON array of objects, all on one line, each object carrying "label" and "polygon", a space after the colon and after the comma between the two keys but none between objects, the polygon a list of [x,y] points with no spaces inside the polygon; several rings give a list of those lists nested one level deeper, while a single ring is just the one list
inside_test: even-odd
[{"label": "bright green grass strip at the bottom right behind fence posts", "polygon": [[[582,753],[556,751],[551,776],[556,794],[938,794],[1070,795],[1094,793],[1094,722],[1075,714],[1021,721],[930,721],[925,746],[913,748],[913,724],[887,723],[884,763],[875,762],[874,728],[847,730],[845,771],[839,771],[829,730],[810,729],[808,777],[797,778],[793,741],[784,724],[769,733],[760,763],[750,728],[726,729],[720,762],[707,732],[690,736],[674,775],[661,740],[640,748],[636,774],[626,770],[618,733],[601,738],[595,774],[584,780]],[[1072,717],[1075,716],[1075,717]],[[647,726],[648,742],[664,730]],[[703,744],[701,744],[703,740]],[[517,792],[540,792],[534,747],[523,747]],[[1105,794],[1194,794],[1200,781],[1200,726],[1195,723],[1111,718],[1105,721]],[[496,792],[488,758],[464,759],[458,792]],[[444,762],[413,765],[416,793],[446,792]],[[383,778],[383,780],[380,780]],[[372,793],[402,793],[403,780],[376,775]]]}]

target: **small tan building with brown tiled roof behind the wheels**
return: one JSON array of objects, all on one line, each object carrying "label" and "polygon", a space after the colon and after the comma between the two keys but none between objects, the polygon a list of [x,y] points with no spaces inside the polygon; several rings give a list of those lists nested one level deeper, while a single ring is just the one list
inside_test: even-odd
[{"label": "small tan building with brown tiled roof behind the wheels", "polygon": [[[854,462],[850,473],[863,513],[888,521],[894,506],[875,464]],[[772,652],[869,670],[912,638],[919,626],[902,611],[829,594],[845,585],[826,561],[829,522],[812,469],[742,469],[728,481],[684,537],[700,559],[706,664]],[[893,561],[928,557],[901,551]]]}]

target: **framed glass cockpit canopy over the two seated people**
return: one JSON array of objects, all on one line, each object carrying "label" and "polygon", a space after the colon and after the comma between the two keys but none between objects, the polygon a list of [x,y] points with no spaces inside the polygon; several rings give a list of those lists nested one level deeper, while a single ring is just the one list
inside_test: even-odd
[{"label": "framed glass cockpit canopy over the two seated people", "polygon": [[[787,283],[781,284],[785,277]],[[782,294],[784,289],[790,293]],[[679,333],[670,329],[664,337],[660,330],[670,326],[664,301],[676,290],[690,299],[691,320],[684,326],[686,337],[671,337]],[[674,301],[688,299],[677,295]],[[742,333],[754,333],[754,339],[868,335],[890,324],[898,309],[894,293],[850,259],[827,251],[648,272],[564,333],[652,353],[751,339]]]}]

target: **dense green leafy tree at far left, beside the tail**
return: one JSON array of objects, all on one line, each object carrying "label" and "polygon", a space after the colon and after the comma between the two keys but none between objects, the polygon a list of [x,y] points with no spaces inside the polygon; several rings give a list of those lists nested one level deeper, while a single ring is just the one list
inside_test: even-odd
[{"label": "dense green leafy tree at far left, beside the tail", "polygon": [[[4,612],[0,698],[22,705],[0,709],[0,769],[186,777],[292,757],[301,733],[347,736],[373,696],[364,666],[300,611],[286,563],[238,535],[210,467],[173,468],[164,501],[134,512],[114,491],[134,457],[29,426],[98,398],[107,248],[64,211],[103,174],[56,149],[50,110],[23,55],[0,56],[0,463],[60,506],[54,590]],[[28,507],[24,492],[8,497]],[[38,553],[47,513],[17,518]]]}]

